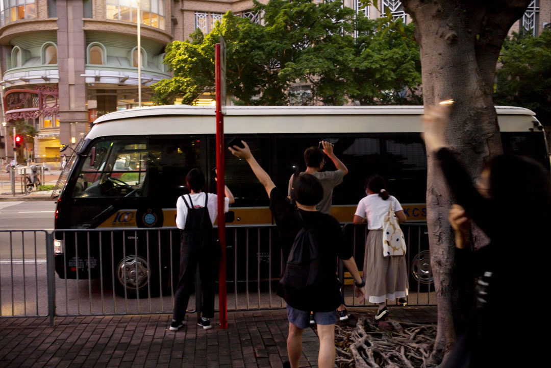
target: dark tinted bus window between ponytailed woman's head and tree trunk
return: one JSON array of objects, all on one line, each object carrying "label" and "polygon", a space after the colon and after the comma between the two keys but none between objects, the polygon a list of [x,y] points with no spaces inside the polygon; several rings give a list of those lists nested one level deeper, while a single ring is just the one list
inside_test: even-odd
[{"label": "dark tinted bus window between ponytailed woman's head and tree trunk", "polygon": [[385,135],[385,171],[388,192],[401,203],[424,203],[426,150],[419,134]]}]

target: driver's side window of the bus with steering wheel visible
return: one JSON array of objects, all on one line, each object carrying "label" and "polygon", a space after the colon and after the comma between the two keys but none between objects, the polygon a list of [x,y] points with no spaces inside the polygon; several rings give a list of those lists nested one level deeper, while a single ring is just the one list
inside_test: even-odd
[{"label": "driver's side window of the bus with steering wheel visible", "polygon": [[84,160],[73,197],[147,196],[145,176],[155,153],[147,149],[144,140],[103,140],[94,147],[94,164],[90,155]]}]

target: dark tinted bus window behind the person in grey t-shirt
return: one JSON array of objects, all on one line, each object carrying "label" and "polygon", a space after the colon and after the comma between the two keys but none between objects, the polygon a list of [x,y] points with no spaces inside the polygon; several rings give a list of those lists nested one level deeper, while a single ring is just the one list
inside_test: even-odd
[{"label": "dark tinted bus window behind the person in grey t-shirt", "polygon": [[[334,144],[334,153],[348,168],[348,175],[333,191],[333,205],[357,204],[365,196],[365,179],[381,170],[380,140],[374,135],[331,134],[323,136],[277,137],[275,141],[276,185],[287,190],[289,178],[295,172],[306,170],[304,150],[318,146],[320,140]],[[336,170],[326,157],[323,171]]]}]

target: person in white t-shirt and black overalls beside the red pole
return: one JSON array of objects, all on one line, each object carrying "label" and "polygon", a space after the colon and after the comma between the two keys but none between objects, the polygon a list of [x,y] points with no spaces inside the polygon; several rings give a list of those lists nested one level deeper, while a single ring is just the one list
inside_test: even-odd
[{"label": "person in white t-shirt and black overalls beside the red pole", "polygon": [[[180,277],[174,294],[170,331],[183,326],[197,266],[203,294],[202,317],[198,318],[197,324],[210,329],[210,318],[214,317],[214,281],[220,250],[212,225],[218,216],[218,196],[203,191],[205,176],[199,169],[187,173],[186,183],[190,193],[179,197],[176,202],[176,226],[181,232]],[[224,212],[228,212],[228,206],[234,202],[234,196],[226,186]]]}]

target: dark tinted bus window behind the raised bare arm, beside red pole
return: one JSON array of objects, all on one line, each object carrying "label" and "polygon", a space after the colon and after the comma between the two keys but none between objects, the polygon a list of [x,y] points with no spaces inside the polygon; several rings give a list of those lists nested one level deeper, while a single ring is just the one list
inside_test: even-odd
[{"label": "dark tinted bus window behind the raised bare arm, beside red pole", "polygon": [[[262,184],[258,181],[255,174],[253,174],[251,167],[247,164],[247,161],[238,159],[230,153],[227,148],[229,143],[235,136],[231,134],[224,135],[225,148],[225,166],[226,186],[230,189],[231,193],[235,197],[235,207],[249,207],[249,206],[268,206],[269,199],[266,190]],[[242,135],[239,138],[245,140],[251,152],[255,155],[258,164],[271,174],[270,170],[270,149],[269,139],[264,136],[258,138],[256,136]],[[212,170],[216,167],[216,139],[214,137],[209,138],[209,191],[216,193],[216,182],[214,181],[214,173]]]}]

